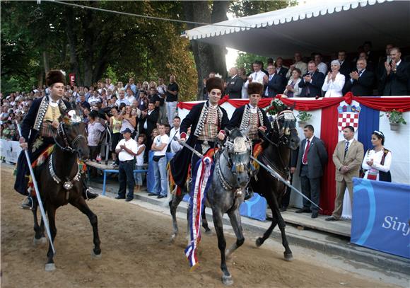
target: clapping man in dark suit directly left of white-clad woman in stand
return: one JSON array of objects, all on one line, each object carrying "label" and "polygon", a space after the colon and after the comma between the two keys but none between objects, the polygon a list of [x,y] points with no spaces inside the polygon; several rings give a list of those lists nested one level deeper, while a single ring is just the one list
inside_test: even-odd
[{"label": "clapping man in dark suit directly left of white-clad woman in stand", "polygon": [[302,81],[299,82],[299,87],[302,88],[300,97],[322,97],[324,74],[317,71],[315,61],[310,61],[307,64],[307,70]]}]

